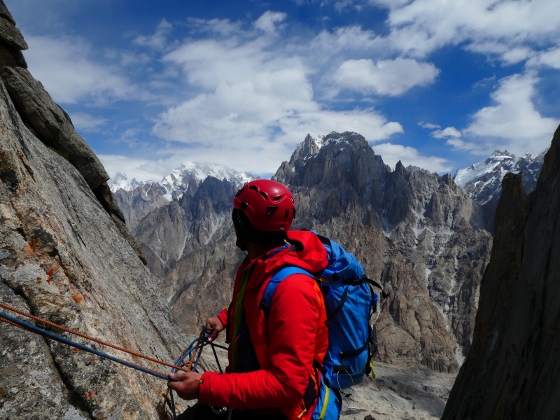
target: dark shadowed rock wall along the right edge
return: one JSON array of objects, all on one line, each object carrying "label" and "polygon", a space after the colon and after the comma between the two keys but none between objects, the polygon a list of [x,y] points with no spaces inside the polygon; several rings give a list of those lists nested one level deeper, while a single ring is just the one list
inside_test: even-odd
[{"label": "dark shadowed rock wall along the right edge", "polygon": [[560,416],[560,127],[535,191],[503,179],[472,347],[443,419]]}]

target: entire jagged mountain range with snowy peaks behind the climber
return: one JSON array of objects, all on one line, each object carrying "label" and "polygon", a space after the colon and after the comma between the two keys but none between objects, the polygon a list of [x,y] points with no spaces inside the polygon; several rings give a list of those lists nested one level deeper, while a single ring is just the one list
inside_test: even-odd
[{"label": "entire jagged mountain range with snowy peaks behind the climber", "polygon": [[[360,134],[332,132],[308,135],[273,179],[295,195],[294,228],[340,241],[385,285],[381,360],[454,371],[470,349],[501,180],[523,172],[529,192],[543,155],[496,151],[455,176],[438,176],[401,162],[392,170]],[[174,315],[189,320],[182,325],[188,332],[229,303],[243,257],[231,200],[250,179],[186,163],[158,183],[123,176],[109,183]]]}]

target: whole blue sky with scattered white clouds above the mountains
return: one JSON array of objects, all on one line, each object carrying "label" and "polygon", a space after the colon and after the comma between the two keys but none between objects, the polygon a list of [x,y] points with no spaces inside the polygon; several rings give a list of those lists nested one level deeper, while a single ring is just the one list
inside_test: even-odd
[{"label": "whole blue sky with scattered white clouds above the mountains", "polygon": [[560,124],[558,0],[3,1],[111,176],[270,176],[332,131],[454,173]]}]

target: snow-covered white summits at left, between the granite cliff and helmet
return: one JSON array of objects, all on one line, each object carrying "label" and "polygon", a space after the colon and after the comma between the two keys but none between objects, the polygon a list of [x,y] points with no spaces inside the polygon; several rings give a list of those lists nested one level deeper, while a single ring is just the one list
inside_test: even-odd
[{"label": "snow-covered white summits at left, between the granite cliff and helmet", "polygon": [[137,179],[128,179],[126,174],[118,172],[108,182],[109,188],[113,193],[118,190],[130,192],[138,187],[146,184],[155,183],[158,187],[165,189],[163,196],[171,201],[179,200],[181,196],[190,188],[196,189],[204,179],[208,176],[214,176],[217,179],[227,179],[237,186],[254,179],[251,174],[246,172],[237,172],[235,169],[224,165],[217,165],[205,162],[185,162],[180,167],[174,169],[169,175],[165,176],[160,182],[156,181],[137,181]]}]

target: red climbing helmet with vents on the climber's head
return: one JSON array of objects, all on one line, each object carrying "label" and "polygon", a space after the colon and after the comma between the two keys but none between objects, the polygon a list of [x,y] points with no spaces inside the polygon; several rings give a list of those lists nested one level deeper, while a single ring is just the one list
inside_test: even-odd
[{"label": "red climbing helmet with vents on the climber's head", "polygon": [[242,211],[256,230],[286,232],[295,217],[293,195],[276,181],[256,179],[237,191],[233,207]]}]

